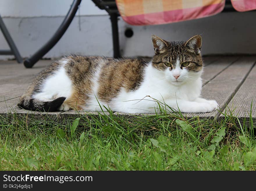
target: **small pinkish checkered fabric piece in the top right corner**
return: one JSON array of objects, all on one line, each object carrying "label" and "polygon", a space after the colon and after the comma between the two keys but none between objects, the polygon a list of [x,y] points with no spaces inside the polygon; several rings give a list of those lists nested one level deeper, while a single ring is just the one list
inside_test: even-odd
[{"label": "small pinkish checkered fabric piece in the top right corner", "polygon": [[249,11],[256,9],[256,0],[231,0],[232,6],[237,11]]}]

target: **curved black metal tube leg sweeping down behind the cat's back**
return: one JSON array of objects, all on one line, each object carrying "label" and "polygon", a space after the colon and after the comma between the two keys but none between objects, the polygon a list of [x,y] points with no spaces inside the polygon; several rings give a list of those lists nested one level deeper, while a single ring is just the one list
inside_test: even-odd
[{"label": "curved black metal tube leg sweeping down behind the cat's back", "polygon": [[81,3],[81,0],[74,0],[72,5],[70,6],[70,9],[57,29],[57,31],[54,33],[54,35],[51,37],[51,39],[42,47],[40,48],[36,53],[34,53],[30,58],[26,59],[24,61],[24,66],[26,68],[32,68],[33,65],[42,58],[49,50],[54,47],[54,45],[61,39],[63,34],[66,32],[67,28],[69,27],[70,23],[72,22],[77,9]]}]

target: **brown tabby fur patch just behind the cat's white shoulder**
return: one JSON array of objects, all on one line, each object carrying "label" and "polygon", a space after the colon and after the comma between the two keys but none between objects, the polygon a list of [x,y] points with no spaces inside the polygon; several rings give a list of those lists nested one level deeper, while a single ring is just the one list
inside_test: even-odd
[{"label": "brown tabby fur patch just behind the cat's white shoulder", "polygon": [[121,88],[127,92],[136,90],[143,80],[146,65],[144,60],[139,59],[111,60],[101,69],[99,98],[109,102],[118,95]]}]

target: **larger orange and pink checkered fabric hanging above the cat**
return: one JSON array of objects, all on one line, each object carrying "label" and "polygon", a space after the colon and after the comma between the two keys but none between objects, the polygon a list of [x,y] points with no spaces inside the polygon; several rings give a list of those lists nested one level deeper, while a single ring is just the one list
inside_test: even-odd
[{"label": "larger orange and pink checkered fabric hanging above the cat", "polygon": [[225,0],[116,0],[116,4],[125,22],[154,25],[215,15]]}]

